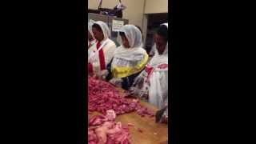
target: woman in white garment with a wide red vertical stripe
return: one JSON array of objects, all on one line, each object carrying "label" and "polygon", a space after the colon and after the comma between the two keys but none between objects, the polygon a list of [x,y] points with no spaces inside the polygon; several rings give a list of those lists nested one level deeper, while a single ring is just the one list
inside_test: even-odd
[{"label": "woman in white garment with a wide red vertical stripe", "polygon": [[110,40],[110,30],[105,22],[94,22],[92,31],[96,43],[88,50],[88,72],[89,74],[97,74],[101,70],[106,70],[107,64],[113,58],[116,46]]}]

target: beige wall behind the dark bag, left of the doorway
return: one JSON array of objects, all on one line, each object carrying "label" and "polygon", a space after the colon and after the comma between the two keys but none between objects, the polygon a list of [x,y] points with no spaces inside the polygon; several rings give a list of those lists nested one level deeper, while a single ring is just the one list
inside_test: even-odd
[{"label": "beige wall behind the dark bag, left of the doorway", "polygon": [[[89,9],[98,9],[100,0],[88,0]],[[102,0],[102,8],[114,8],[118,4],[118,0]],[[142,27],[145,0],[122,0],[127,6],[122,11],[122,18],[128,19],[130,24]]]}]

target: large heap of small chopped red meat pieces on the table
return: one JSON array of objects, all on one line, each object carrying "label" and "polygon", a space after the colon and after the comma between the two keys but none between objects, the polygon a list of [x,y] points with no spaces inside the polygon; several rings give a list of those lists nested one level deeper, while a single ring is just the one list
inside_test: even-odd
[{"label": "large heap of small chopped red meat pieces on the table", "polygon": [[108,82],[88,78],[89,111],[106,114],[106,110],[114,110],[115,114],[126,114],[136,111],[142,117],[154,116],[154,112],[142,107],[138,101],[123,98],[118,90]]}]

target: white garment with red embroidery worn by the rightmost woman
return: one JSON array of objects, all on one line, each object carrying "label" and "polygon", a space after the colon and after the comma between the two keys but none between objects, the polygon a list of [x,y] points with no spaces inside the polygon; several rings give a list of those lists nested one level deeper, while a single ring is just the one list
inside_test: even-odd
[{"label": "white garment with red embroidery worn by the rightmost woman", "polygon": [[[168,28],[167,23],[163,25]],[[138,78],[144,79],[141,91],[148,91],[149,102],[162,109],[168,105],[168,42],[163,54],[158,54],[158,50],[154,52],[154,57],[150,59]],[[168,108],[165,114],[168,114]]]}]

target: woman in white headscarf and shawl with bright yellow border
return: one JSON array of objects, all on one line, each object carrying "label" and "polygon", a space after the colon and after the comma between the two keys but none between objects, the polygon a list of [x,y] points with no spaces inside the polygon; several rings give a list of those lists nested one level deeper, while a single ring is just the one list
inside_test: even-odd
[{"label": "woman in white headscarf and shawl with bright yellow border", "polygon": [[118,42],[121,46],[114,52],[106,80],[129,90],[134,78],[145,68],[149,57],[142,48],[142,33],[134,25],[122,26],[118,32]]}]

